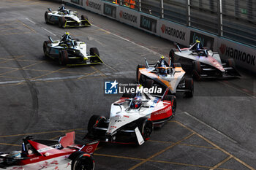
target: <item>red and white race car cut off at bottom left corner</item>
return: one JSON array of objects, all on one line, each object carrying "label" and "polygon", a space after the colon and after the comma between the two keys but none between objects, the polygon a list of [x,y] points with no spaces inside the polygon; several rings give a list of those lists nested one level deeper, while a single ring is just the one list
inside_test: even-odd
[{"label": "red and white race car cut off at bottom left corner", "polygon": [[93,170],[91,154],[99,140],[84,145],[75,144],[75,132],[69,132],[58,140],[23,139],[21,151],[0,153],[0,169],[45,170]]}]

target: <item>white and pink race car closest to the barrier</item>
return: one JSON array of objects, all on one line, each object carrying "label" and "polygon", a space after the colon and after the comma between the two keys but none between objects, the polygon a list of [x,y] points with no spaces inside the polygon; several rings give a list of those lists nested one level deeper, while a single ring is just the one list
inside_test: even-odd
[{"label": "white and pink race car closest to the barrier", "polygon": [[192,70],[192,75],[196,80],[203,78],[229,78],[238,77],[233,58],[227,58],[222,61],[218,53],[207,50],[199,40],[189,48],[170,50],[170,58],[173,61],[181,63],[186,70]]}]

